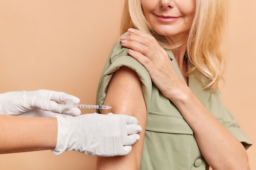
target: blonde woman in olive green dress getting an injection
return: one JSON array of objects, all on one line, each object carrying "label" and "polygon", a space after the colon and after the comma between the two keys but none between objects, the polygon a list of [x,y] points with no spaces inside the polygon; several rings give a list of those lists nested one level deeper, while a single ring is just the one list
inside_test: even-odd
[{"label": "blonde woman in olive green dress getting an injection", "polygon": [[249,170],[251,142],[218,90],[226,0],[126,0],[122,18],[128,33],[110,53],[97,102],[129,110],[142,132],[129,155],[98,157],[98,170]]}]

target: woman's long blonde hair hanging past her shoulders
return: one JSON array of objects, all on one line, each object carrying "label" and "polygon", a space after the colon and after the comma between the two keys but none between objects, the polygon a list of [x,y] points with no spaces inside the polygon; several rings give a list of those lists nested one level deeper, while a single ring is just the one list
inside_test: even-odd
[{"label": "woman's long blonde hair hanging past her shoulders", "polygon": [[[153,31],[144,16],[140,0],[125,0],[121,21],[121,34],[135,28],[153,35],[165,49],[173,49],[166,38]],[[208,79],[204,88],[212,91],[223,79],[223,40],[227,28],[227,0],[195,0],[195,16],[186,42],[186,52],[193,67]],[[204,82],[203,78],[201,77]]]}]

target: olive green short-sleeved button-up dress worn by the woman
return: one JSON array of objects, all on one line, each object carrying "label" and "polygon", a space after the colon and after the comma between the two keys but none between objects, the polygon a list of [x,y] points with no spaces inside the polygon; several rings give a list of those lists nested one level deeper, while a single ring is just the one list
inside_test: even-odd
[{"label": "olive green short-sleeved button-up dress worn by the woman", "polygon": [[[175,71],[184,81],[182,73],[171,51],[167,51]],[[188,64],[190,65],[190,63]],[[147,108],[146,134],[141,157],[140,170],[206,170],[209,165],[204,160],[193,130],[183,119],[175,105],[151,81],[146,68],[128,55],[120,40],[115,43],[99,81],[97,104],[106,97],[109,81],[121,66],[134,70],[142,82],[143,95]],[[184,81],[185,83],[185,81]],[[220,91],[202,89],[198,71],[189,74],[189,88],[210,112],[236,137],[245,148],[251,146],[245,132],[229,113],[220,99]],[[100,110],[97,110],[100,113]]]}]

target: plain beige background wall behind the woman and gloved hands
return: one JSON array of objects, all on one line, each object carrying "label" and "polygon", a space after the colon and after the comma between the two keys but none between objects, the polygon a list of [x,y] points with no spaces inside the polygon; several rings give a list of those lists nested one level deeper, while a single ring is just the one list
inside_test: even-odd
[{"label": "plain beige background wall behind the woman and gloved hands", "polygon": [[[0,0],[0,93],[49,89],[94,104],[119,36],[120,0]],[[256,0],[230,1],[222,99],[255,144]],[[92,113],[94,110],[83,110]],[[1,140],[1,139],[0,139]],[[247,151],[256,169],[256,148]],[[1,170],[94,170],[95,157],[49,150],[0,155]]]}]

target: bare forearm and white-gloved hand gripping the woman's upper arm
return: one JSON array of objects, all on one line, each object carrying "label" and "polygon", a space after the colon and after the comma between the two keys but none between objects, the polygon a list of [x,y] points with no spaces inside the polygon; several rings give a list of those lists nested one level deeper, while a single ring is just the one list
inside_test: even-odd
[{"label": "bare forearm and white-gloved hand gripping the woman's upper arm", "polygon": [[[75,150],[100,156],[127,155],[141,131],[135,117],[112,113],[54,118],[0,115],[0,129],[0,154],[51,149],[55,155]],[[115,139],[121,140],[112,142]]]}]

